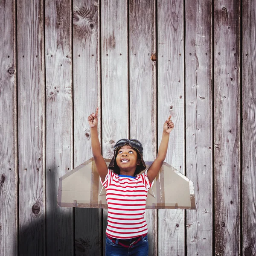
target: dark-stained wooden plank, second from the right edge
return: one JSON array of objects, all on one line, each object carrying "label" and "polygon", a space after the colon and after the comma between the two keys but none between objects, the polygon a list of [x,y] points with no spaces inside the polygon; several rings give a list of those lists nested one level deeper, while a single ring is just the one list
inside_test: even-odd
[{"label": "dark-stained wooden plank, second from the right edge", "polygon": [[214,1],[215,255],[240,255],[240,1]]}]

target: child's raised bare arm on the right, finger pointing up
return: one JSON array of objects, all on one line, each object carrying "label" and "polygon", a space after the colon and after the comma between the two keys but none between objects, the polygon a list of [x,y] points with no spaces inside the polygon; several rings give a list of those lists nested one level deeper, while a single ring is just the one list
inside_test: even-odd
[{"label": "child's raised bare arm on the right, finger pointing up", "polygon": [[172,129],[174,128],[174,124],[171,119],[172,116],[169,116],[166,122],[163,124],[163,136],[162,140],[158,149],[157,158],[154,160],[154,162],[151,164],[151,166],[148,168],[147,176],[150,182],[152,183],[155,177],[157,177],[158,172],[161,169],[161,166],[163,165],[163,161],[166,158],[167,148],[168,148],[168,142],[169,142],[169,135]]}]

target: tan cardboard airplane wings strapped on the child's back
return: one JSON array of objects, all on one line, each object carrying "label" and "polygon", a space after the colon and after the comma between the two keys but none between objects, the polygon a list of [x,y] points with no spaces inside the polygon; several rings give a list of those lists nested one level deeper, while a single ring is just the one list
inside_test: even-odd
[{"label": "tan cardboard airplane wings strapped on the child's back", "polygon": [[[106,159],[107,166],[111,159]],[[147,169],[153,162],[145,161]],[[62,176],[59,181],[59,207],[108,208],[106,190],[100,182],[93,157]],[[164,162],[152,188],[147,209],[195,209],[194,184]]]}]

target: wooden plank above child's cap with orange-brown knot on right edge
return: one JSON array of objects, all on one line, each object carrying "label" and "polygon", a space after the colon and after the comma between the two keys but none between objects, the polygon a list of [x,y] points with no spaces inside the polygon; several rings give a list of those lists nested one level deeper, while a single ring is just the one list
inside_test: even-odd
[{"label": "wooden plank above child's cap with orange-brown knot on right edge", "polygon": [[[143,159],[157,156],[155,3],[130,0],[130,134],[143,144]],[[146,122],[145,122],[146,120]],[[154,125],[148,125],[154,124]],[[146,209],[148,255],[157,255],[157,209]]]}]

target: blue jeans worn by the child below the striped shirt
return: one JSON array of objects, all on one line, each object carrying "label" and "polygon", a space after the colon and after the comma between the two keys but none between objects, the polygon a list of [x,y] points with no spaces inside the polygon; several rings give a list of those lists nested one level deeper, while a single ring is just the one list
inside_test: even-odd
[{"label": "blue jeans worn by the child below the striped shirt", "polygon": [[141,240],[130,248],[115,244],[106,236],[105,256],[148,256],[148,235],[142,236]]}]

